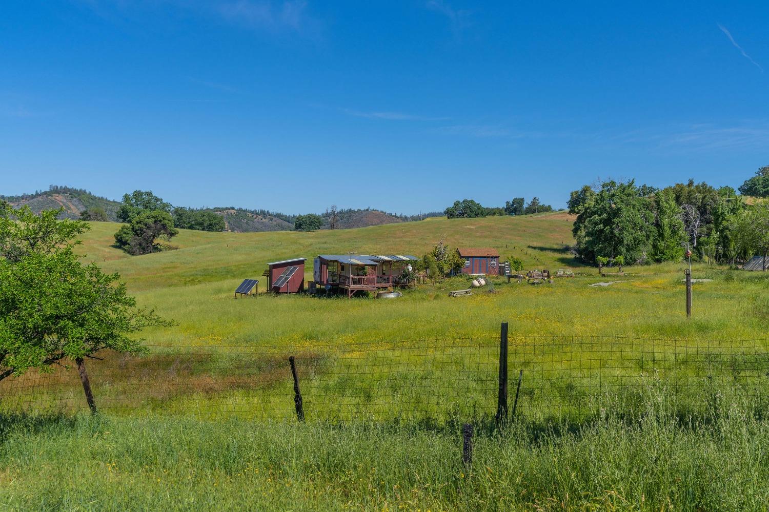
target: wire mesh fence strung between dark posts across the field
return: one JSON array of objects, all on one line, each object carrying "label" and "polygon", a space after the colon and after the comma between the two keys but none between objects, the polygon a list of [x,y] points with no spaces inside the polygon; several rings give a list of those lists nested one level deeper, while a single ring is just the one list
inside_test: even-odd
[{"label": "wire mesh fence strung between dark posts across the field", "polygon": [[[762,398],[769,394],[767,347],[769,340],[494,334],[302,347],[150,346],[149,354],[98,354],[86,364],[98,410],[112,414],[295,418],[293,356],[307,421],[491,417],[501,401],[515,406],[518,418],[544,421],[589,414],[602,397],[632,408],[652,384],[681,411],[706,407],[714,393]],[[87,409],[74,364],[0,381],[0,411]]]}]

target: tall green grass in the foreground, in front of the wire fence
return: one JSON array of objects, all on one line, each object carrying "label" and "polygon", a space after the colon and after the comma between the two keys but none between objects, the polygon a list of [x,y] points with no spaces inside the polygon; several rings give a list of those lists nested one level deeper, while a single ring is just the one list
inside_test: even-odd
[{"label": "tall green grass in the foreground, in front of the wire fence", "polygon": [[664,384],[580,424],[0,417],[4,510],[766,510],[767,404]]}]

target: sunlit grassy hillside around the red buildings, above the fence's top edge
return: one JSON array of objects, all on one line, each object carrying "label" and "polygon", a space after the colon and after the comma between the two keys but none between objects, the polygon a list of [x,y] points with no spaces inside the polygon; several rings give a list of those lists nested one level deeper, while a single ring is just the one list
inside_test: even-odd
[{"label": "sunlit grassy hillside around the red buildings, above the fence's top edge", "polygon": [[[500,322],[511,335],[605,335],[692,339],[761,338],[767,330],[766,291],[761,274],[695,264],[694,318],[684,314],[683,264],[626,268],[624,278],[601,278],[568,252],[571,220],[566,214],[387,224],[310,233],[207,233],[181,230],[176,251],[131,257],[111,247],[118,224],[92,223],[80,249],[86,261],[117,271],[141,305],[154,307],[178,326],[145,332],[161,345],[285,345],[300,341],[388,341],[488,336]],[[321,299],[307,295],[260,294],[233,299],[244,278],[261,278],[268,261],[318,254],[414,254],[441,238],[451,247],[491,247],[503,258],[522,258],[525,268],[572,268],[577,277],[529,286],[498,283],[494,294],[449,298],[468,287],[454,278],[436,287],[406,291],[402,299]],[[608,287],[588,284],[619,281]],[[739,321],[737,321],[739,319]]]}]

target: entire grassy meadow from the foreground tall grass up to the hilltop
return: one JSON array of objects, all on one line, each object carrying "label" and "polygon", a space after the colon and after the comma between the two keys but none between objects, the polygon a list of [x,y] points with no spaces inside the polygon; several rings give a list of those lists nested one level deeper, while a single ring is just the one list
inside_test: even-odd
[{"label": "entire grassy meadow from the foreground tall grass up to the hilltop", "polygon": [[[88,361],[98,417],[78,412],[72,371],[0,383],[0,507],[767,510],[761,273],[696,264],[694,278],[712,281],[694,284],[687,319],[683,264],[601,278],[569,253],[563,213],[182,230],[178,250],[140,257],[112,248],[118,225],[92,223],[79,251],[177,325],[142,333],[146,356]],[[394,300],[233,298],[244,278],[266,284],[268,261],[308,258],[311,278],[317,254],[421,255],[441,238],[576,277],[497,278],[461,298],[447,292],[467,278]],[[517,421],[497,428],[501,322],[511,378],[525,377]],[[289,354],[305,424],[293,419]],[[459,459],[464,421],[477,430],[472,467]]]}]

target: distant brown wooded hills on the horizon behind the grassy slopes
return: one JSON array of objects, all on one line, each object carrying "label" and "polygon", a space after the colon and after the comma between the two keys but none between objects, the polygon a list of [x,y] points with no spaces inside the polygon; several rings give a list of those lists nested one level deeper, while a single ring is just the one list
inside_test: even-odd
[{"label": "distant brown wooded hills on the horizon behind the grassy slopes", "polygon": [[[34,194],[22,194],[16,196],[0,195],[18,208],[26,204],[32,211],[39,213],[43,210],[64,208],[62,218],[80,218],[82,211],[90,208],[103,208],[110,221],[118,222],[117,212],[122,204],[120,201],[103,198],[92,194],[82,188],[72,188],[61,185],[51,185],[47,191],[35,191]],[[294,229],[296,215],[283,214],[278,211],[251,210],[248,208],[217,207],[201,208],[201,210],[213,211],[225,219],[227,231],[238,233],[251,233],[255,231],[291,231]],[[391,214],[373,208],[343,209],[336,213],[337,229],[366,228],[381,224],[393,224],[395,222],[418,221],[428,217],[439,217],[442,212],[431,212],[419,215]],[[321,214],[324,229],[331,227],[331,214]]]}]

